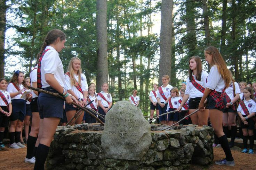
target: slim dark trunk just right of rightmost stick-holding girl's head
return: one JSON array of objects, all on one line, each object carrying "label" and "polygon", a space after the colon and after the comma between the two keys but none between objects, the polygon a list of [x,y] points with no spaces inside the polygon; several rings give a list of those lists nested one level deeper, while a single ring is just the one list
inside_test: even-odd
[{"label": "slim dark trunk just right of rightmost stick-holding girl's head", "polygon": [[222,24],[221,24],[221,49],[220,52],[224,58],[226,58],[224,49],[226,41],[226,20],[227,20],[227,0],[223,0],[222,3]]}]

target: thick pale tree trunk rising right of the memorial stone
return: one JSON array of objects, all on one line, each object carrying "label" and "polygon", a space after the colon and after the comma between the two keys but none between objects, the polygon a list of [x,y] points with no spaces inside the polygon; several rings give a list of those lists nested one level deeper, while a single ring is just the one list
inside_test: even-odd
[{"label": "thick pale tree trunk rising right of the memorial stone", "polygon": [[173,23],[173,0],[162,0],[161,30],[160,30],[160,58],[159,58],[159,86],[161,77],[167,74],[171,77],[171,33]]}]

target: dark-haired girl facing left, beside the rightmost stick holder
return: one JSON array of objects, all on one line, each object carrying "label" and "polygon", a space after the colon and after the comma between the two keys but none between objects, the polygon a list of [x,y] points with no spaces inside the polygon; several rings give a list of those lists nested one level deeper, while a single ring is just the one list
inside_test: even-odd
[{"label": "dark-haired girl facing left, beside the rightmost stick holder", "polygon": [[[202,62],[199,56],[192,56],[189,59],[189,77],[186,81],[186,90],[181,106],[177,111],[182,109],[182,106],[189,99],[189,113],[193,113],[199,105],[206,87],[206,78],[208,73],[202,70]],[[207,125],[209,110],[198,111],[190,116],[192,123],[195,125]]]}]

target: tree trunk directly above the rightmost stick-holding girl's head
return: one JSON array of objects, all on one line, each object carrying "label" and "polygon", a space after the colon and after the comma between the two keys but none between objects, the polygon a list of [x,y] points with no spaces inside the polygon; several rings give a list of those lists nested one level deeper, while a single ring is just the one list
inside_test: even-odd
[{"label": "tree trunk directly above the rightmost stick-holding girl's head", "polygon": [[205,39],[206,39],[206,46],[210,46],[210,27],[209,27],[209,14],[207,8],[207,0],[202,0],[203,3],[203,19],[204,19],[204,26],[205,26]]}]

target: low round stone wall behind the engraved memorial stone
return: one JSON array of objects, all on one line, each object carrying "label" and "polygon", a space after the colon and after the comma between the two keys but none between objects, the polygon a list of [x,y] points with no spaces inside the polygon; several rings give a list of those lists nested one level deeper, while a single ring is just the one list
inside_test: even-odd
[{"label": "low round stone wall behind the engraved memorial stone", "polygon": [[108,159],[101,148],[104,127],[82,124],[58,127],[47,158],[47,169],[189,169],[213,160],[213,129],[180,125],[160,131],[165,125],[151,125],[152,142],[140,161]]}]

